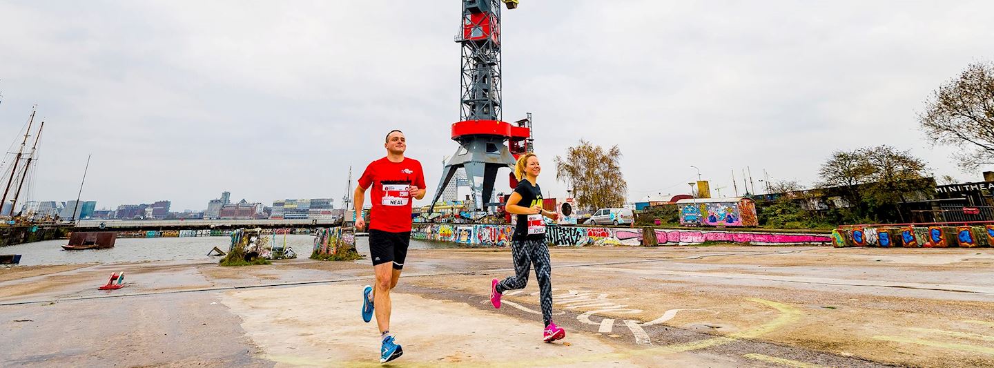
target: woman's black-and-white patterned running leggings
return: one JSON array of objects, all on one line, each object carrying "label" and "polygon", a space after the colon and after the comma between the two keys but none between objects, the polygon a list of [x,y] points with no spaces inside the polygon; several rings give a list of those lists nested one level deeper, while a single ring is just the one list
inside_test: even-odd
[{"label": "woman's black-and-white patterned running leggings", "polygon": [[514,258],[515,276],[504,278],[497,283],[497,292],[525,288],[528,284],[528,270],[535,264],[535,276],[539,279],[539,298],[542,303],[542,319],[546,326],[553,322],[553,281],[552,266],[549,263],[549,247],[545,239],[538,241],[511,242],[511,256]]}]

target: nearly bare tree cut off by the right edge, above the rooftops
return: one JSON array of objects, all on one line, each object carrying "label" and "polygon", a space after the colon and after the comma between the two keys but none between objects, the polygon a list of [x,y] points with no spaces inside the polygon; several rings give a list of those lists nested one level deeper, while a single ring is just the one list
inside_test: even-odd
[{"label": "nearly bare tree cut off by the right edge, above the rooftops", "polygon": [[967,66],[932,92],[918,120],[933,144],[963,148],[953,155],[961,168],[994,164],[994,65]]}]

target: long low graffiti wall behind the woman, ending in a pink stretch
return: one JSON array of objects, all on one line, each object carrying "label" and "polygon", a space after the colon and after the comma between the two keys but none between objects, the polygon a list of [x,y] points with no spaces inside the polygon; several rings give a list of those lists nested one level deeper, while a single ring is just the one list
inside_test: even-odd
[{"label": "long low graffiti wall behind the woman, ending in a pink stretch", "polygon": [[[415,224],[412,239],[454,242],[472,246],[506,247],[514,229],[509,225]],[[705,242],[748,243],[754,245],[832,244],[828,234],[777,234],[737,231],[654,230],[661,246],[694,245]],[[641,229],[549,226],[546,241],[564,247],[641,246]],[[994,234],[994,233],[992,233]]]}]

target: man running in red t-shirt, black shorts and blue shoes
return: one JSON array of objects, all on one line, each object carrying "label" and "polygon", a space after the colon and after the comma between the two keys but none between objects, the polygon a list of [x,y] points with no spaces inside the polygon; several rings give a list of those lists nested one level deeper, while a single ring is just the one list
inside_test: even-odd
[{"label": "man running in red t-shirt, black shorts and blue shoes", "polygon": [[383,346],[380,350],[380,363],[397,359],[404,350],[390,332],[390,290],[397,286],[404,269],[411,243],[412,198],[424,198],[424,173],[421,163],[414,158],[404,157],[407,149],[404,132],[391,130],[387,133],[387,157],[373,161],[359,178],[359,186],[353,198],[356,208],[356,230],[366,227],[363,218],[363,201],[366,189],[373,187],[370,194],[373,209],[370,211],[370,259],[376,274],[376,287],[363,288],[363,320],[373,319],[376,306],[376,323],[380,327]]}]

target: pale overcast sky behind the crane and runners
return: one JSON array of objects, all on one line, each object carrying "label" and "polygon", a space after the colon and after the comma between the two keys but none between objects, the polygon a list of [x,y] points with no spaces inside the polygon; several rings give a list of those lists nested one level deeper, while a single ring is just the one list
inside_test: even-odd
[{"label": "pale overcast sky behind the crane and runners", "polygon": [[[937,177],[981,181],[928,142],[917,114],[994,59],[992,12],[526,0],[503,12],[503,118],[533,113],[550,197],[566,195],[554,157],[580,139],[620,148],[632,201],[687,193],[692,165],[723,196],[733,171],[745,191],[746,167],[757,192],[767,176],[812,186],[833,151],[880,144]],[[75,200],[91,154],[82,197],[97,208],[198,211],[223,191],[340,204],[349,167],[358,178],[396,128],[423,165],[426,204],[457,148],[460,14],[458,1],[0,0],[0,144],[37,104],[31,199]]]}]

